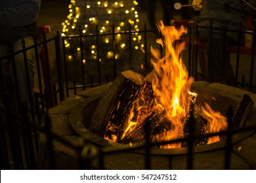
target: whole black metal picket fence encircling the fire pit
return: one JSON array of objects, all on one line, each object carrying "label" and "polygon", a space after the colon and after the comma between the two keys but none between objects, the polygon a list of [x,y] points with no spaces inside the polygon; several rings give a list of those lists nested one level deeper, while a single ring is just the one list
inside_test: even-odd
[{"label": "whole black metal picket fence encircling the fire pit", "polygon": [[[114,26],[114,25],[113,25]],[[208,27],[207,27],[208,28]],[[188,26],[188,35],[184,37],[184,41],[187,42],[187,53],[188,53],[188,60],[187,60],[187,67],[190,75],[194,76],[196,80],[200,80],[200,76],[204,75],[205,73],[198,71],[198,46],[199,42],[196,41],[195,33],[198,30],[198,26],[189,25]],[[230,30],[224,30],[230,31]],[[136,32],[131,31],[131,28],[128,28],[128,31],[121,32],[122,35],[131,39],[131,34],[133,33],[140,33],[143,37],[144,41],[144,52],[141,52],[142,63],[144,68],[146,68],[146,73],[150,72],[150,52],[148,52],[148,48],[150,45],[147,44],[148,36],[150,33],[158,33],[157,30],[148,30],[146,29],[146,24],[144,25],[144,30]],[[247,32],[238,31],[238,37],[241,37],[242,34]],[[90,169],[90,164],[88,163],[91,158],[98,158],[100,161],[100,169],[104,169],[104,155],[114,153],[114,152],[121,152],[127,151],[131,149],[139,149],[144,148],[146,149],[145,158],[146,164],[145,169],[150,169],[150,147],[156,146],[156,144],[150,144],[149,139],[146,140],[145,146],[134,146],[134,147],[127,147],[127,148],[99,148],[96,154],[85,154],[83,148],[86,148],[87,145],[90,145],[89,142],[85,142],[84,144],[72,144],[65,139],[58,137],[58,135],[51,133],[51,121],[47,115],[47,109],[58,105],[58,102],[64,101],[66,97],[70,96],[70,91],[74,91],[76,94],[77,90],[86,90],[86,88],[91,88],[93,86],[98,86],[100,84],[105,84],[108,82],[113,81],[119,72],[123,71],[122,67],[118,67],[118,62],[116,60],[115,55],[115,35],[120,34],[116,32],[112,33],[98,33],[97,29],[95,34],[93,35],[83,35],[80,32],[79,35],[72,35],[68,37],[60,37],[59,33],[51,38],[47,39],[46,35],[43,35],[43,41],[37,42],[37,38],[35,37],[34,42],[35,44],[30,47],[24,47],[22,50],[17,52],[11,52],[8,56],[0,58],[0,61],[3,59],[10,59],[12,63],[15,62],[14,56],[16,54],[24,54],[24,59],[26,59],[26,50],[34,49],[36,53],[36,63],[35,68],[37,68],[37,80],[38,80],[38,91],[32,93],[31,97],[35,98],[35,104],[32,105],[30,108],[26,108],[26,103],[22,103],[22,101],[18,101],[21,108],[20,111],[16,114],[10,110],[8,103],[5,103],[4,100],[0,102],[0,130],[1,130],[1,148],[0,148],[0,157],[1,157],[1,169],[36,169],[37,168],[37,156],[40,151],[39,146],[39,136],[37,135],[38,131],[47,134],[48,139],[48,152],[49,152],[49,169],[54,169],[54,156],[53,156],[53,139],[57,139],[58,141],[67,144],[71,148],[77,150],[77,154],[79,155],[79,168],[81,169]],[[251,68],[250,71],[250,78],[249,83],[245,83],[245,80],[242,82],[238,81],[238,73],[239,70],[239,63],[240,63],[240,49],[242,48],[242,43],[238,40],[237,46],[237,56],[236,56],[236,80],[232,80],[232,82],[238,87],[247,86],[248,90],[255,89],[255,85],[253,85],[253,67],[254,67],[254,56],[255,56],[255,37],[256,31],[250,32],[249,34],[253,34],[253,46],[251,48],[251,52],[249,53],[251,56]],[[98,50],[98,54],[96,55],[96,72],[92,75],[86,75],[88,69],[87,65],[84,64],[83,60],[86,59],[87,55],[83,52],[79,54],[79,69],[76,69],[75,72],[79,73],[81,78],[78,78],[81,84],[77,84],[76,79],[72,78],[68,74],[68,69],[71,63],[67,61],[67,54],[66,54],[66,47],[65,47],[65,40],[66,39],[77,39],[78,42],[81,44],[81,48],[85,46],[86,42],[84,40],[87,37],[95,37],[95,45],[96,48],[100,48],[100,39],[99,37],[104,37],[106,35],[112,36],[112,52],[114,53],[112,56],[112,71],[109,73],[110,75],[106,75],[106,80],[102,82],[102,70],[104,70],[104,65],[100,62],[100,50]],[[134,52],[131,48],[131,41],[128,41],[129,45],[127,46],[127,62],[129,63],[129,69],[133,69],[133,59],[134,59]],[[54,47],[49,50],[49,43],[54,43]],[[43,46],[42,51],[38,49],[39,46]],[[50,69],[50,60],[49,60],[49,51],[55,54],[55,59],[51,63],[51,65],[55,65],[56,69]],[[68,65],[69,64],[69,65]],[[119,68],[119,69],[117,69]],[[121,69],[120,69],[121,68]],[[90,69],[90,68],[89,68]],[[80,71],[81,73],[80,73]],[[43,71],[43,73],[41,73]],[[79,71],[79,72],[78,72]],[[56,81],[54,81],[53,75],[56,75]],[[86,77],[85,77],[86,76]],[[97,78],[97,82],[94,82],[94,78]],[[70,82],[72,81],[72,82]],[[70,84],[71,83],[71,84]],[[3,73],[1,73],[0,67],[0,84],[1,84],[1,93],[4,93],[3,87]],[[18,91],[18,86],[14,86]],[[1,95],[3,96],[3,95]],[[29,118],[33,119],[33,122],[29,120]],[[44,122],[44,125],[41,125],[41,122]],[[191,123],[192,124],[192,123]],[[193,126],[191,126],[193,129]],[[223,134],[227,135],[227,142],[226,142],[226,160],[224,163],[223,169],[230,168],[230,146],[231,141],[230,137],[234,135],[234,133],[238,133],[240,131],[247,131],[247,130],[255,130],[255,126],[253,127],[246,127],[242,129],[228,129],[228,131],[224,131]],[[148,129],[146,130],[148,131]],[[177,139],[174,141],[168,142],[161,142],[161,144],[167,144],[171,142],[181,142],[187,141],[188,142],[188,169],[192,169],[192,159],[193,159],[193,146],[192,140],[196,137],[193,136],[193,132],[191,137],[187,139]],[[216,134],[209,134],[205,135],[205,137],[213,136]],[[200,137],[202,138],[202,137]]]}]

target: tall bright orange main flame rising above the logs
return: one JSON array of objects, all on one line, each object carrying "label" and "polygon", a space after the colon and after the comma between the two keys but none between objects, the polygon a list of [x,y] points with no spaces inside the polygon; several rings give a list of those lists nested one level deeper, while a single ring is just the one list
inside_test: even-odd
[{"label": "tall bright orange main flame rising above the logs", "polygon": [[[173,125],[161,138],[163,141],[168,141],[182,137],[181,130],[190,106],[190,86],[193,78],[188,77],[186,66],[182,63],[181,51],[184,49],[184,43],[175,42],[183,33],[186,33],[186,29],[183,26],[179,29],[173,26],[165,27],[163,22],[160,22],[159,29],[163,39],[158,39],[158,43],[164,48],[164,56],[161,58],[160,52],[152,48],[152,65],[154,66],[152,86],[156,103],[163,106],[165,118]],[[181,144],[171,144],[164,148],[179,146]]]}]

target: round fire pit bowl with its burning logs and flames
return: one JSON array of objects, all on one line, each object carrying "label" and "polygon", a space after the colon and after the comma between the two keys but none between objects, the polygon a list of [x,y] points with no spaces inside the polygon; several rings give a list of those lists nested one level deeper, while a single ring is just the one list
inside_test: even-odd
[{"label": "round fire pit bowl with its burning logs and flames", "polygon": [[[73,116],[81,116],[81,125],[72,124],[72,127],[77,133],[85,131],[103,144],[133,146],[145,145],[148,141],[159,144],[190,138],[190,133],[195,136],[219,133],[228,126],[235,129],[248,123],[253,107],[248,95],[244,95],[242,101],[235,101],[211,91],[191,90],[194,79],[188,76],[181,59],[184,44],[175,42],[186,29],[165,27],[162,23],[159,29],[163,38],[158,42],[164,48],[164,56],[152,48],[152,73],[146,77],[133,71],[121,73],[103,96],[81,110],[76,109],[79,114]],[[191,123],[192,132],[189,131]],[[249,134],[234,135],[233,143]],[[226,142],[224,139],[221,135],[196,139],[194,152],[221,148]],[[186,146],[186,142],[160,144],[151,152],[186,154]]]}]

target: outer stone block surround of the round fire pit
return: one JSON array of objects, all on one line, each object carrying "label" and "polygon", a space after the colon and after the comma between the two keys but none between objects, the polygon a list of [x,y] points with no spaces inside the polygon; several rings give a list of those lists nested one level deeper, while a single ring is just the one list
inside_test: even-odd
[{"label": "outer stone block surround of the round fire pit", "polygon": [[[49,110],[49,116],[52,122],[52,130],[54,133],[63,137],[67,141],[74,144],[79,144],[82,141],[80,135],[78,135],[74,129],[70,126],[70,113],[72,110],[81,103],[88,103],[95,96],[102,95],[106,89],[111,86],[105,84],[96,88],[87,89],[78,95],[69,97],[65,101],[62,101],[56,107]],[[204,88],[205,90],[211,90],[211,92],[220,93],[223,95],[230,95],[236,99],[242,99],[242,95],[246,93],[249,95],[254,103],[256,103],[256,94],[248,91],[226,86],[223,84],[208,82],[194,82],[193,88]],[[253,110],[256,110],[254,104]],[[255,114],[255,113],[254,113]],[[256,122],[256,116],[251,115],[249,117],[251,121]],[[38,169],[48,169],[46,150],[47,150],[47,137],[44,133],[40,133],[41,140],[41,153],[39,156]],[[77,152],[74,149],[62,144],[62,142],[53,141],[54,146],[54,158],[56,169],[78,169]],[[91,148],[97,147],[97,144],[91,146]],[[251,133],[246,139],[234,144],[232,146],[230,169],[256,169],[256,133]],[[209,152],[201,152],[194,154],[193,169],[207,170],[207,169],[224,169],[224,156],[225,151],[223,149],[213,150]],[[105,169],[145,169],[146,158],[143,154],[135,152],[119,152],[115,154],[108,154],[104,156],[104,168]],[[187,165],[186,155],[175,156],[151,156],[151,169],[186,169]],[[91,161],[92,169],[99,169],[98,159]]]}]

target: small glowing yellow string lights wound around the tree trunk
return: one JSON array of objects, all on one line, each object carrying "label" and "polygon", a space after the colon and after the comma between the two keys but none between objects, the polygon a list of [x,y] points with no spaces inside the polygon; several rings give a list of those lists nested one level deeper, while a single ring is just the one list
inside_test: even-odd
[{"label": "small glowing yellow string lights wound around the tree trunk", "polygon": [[[62,22],[62,37],[68,35],[77,35],[81,30],[83,34],[95,34],[96,25],[98,26],[98,33],[112,33],[113,25],[115,27],[114,31],[120,33],[116,35],[115,41],[117,50],[125,50],[127,46],[127,38],[121,34],[122,31],[127,31],[129,29],[129,24],[131,25],[132,31],[139,31],[139,14],[136,10],[138,5],[137,1],[126,0],[107,0],[107,1],[94,1],[94,0],[71,0],[69,8],[69,14],[67,19]],[[110,41],[112,35],[102,37],[104,45],[102,48],[104,50],[111,46]],[[139,50],[140,47],[144,47],[140,44],[142,37],[139,33],[132,34],[133,48]],[[87,40],[88,41],[88,40]],[[78,42],[78,39],[77,39]],[[65,46],[70,50],[68,52],[68,59],[72,59],[75,52],[81,52],[79,44],[77,42],[72,42],[70,40],[65,40]],[[88,41],[87,51],[90,49],[91,58],[96,59],[96,46],[94,41]],[[101,49],[102,50],[102,49]],[[116,59],[119,58],[121,53],[116,52]],[[106,55],[102,55],[101,58],[111,58],[113,56],[112,51],[106,51]],[[101,59],[100,58],[100,59]],[[85,60],[84,60],[85,62]]]}]

